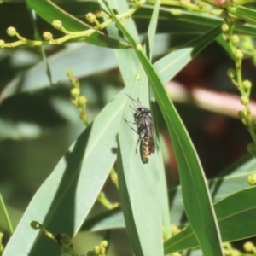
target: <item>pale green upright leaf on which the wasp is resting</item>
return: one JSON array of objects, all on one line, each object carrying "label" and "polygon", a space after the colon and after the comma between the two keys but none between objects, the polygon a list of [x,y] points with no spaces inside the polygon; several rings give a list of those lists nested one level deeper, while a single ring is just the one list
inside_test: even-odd
[{"label": "pale green upright leaf on which the wasp is resting", "polygon": [[[127,9],[126,1],[109,1],[113,8],[120,12]],[[154,19],[157,20],[157,17]],[[137,30],[132,20],[128,26],[135,38]],[[155,22],[155,20],[154,20]],[[110,34],[118,37],[116,27],[110,28]],[[154,38],[154,29],[151,37]],[[131,50],[115,51],[119,60],[119,68],[123,75],[128,95],[140,96],[143,104],[148,102],[148,79],[137,56]],[[132,86],[131,86],[132,84]],[[127,91],[128,91],[127,90]],[[143,91],[143,93],[142,93]],[[131,108],[128,106],[130,99],[125,96],[125,118],[132,120]],[[128,118],[130,116],[130,118]],[[137,133],[123,121],[119,129],[119,192],[122,209],[125,217],[125,225],[131,240],[133,252],[136,255],[163,255],[161,234],[161,210],[160,210],[160,182],[156,172],[157,158],[150,160],[149,165],[143,165],[139,154],[135,152]],[[152,157],[153,158],[153,157]],[[137,196],[139,195],[139,196]],[[150,223],[150,224],[149,224]]]}]

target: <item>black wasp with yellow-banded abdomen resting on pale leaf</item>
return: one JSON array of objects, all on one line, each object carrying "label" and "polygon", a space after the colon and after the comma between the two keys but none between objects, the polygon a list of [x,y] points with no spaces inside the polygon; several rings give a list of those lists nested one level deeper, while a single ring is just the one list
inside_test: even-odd
[{"label": "black wasp with yellow-banded abdomen resting on pale leaf", "polygon": [[[133,113],[135,123],[131,123],[125,119],[125,122],[131,123],[131,124],[136,124],[137,125],[137,133],[138,133],[138,139],[137,139],[137,145],[139,142],[140,144],[140,153],[141,153],[141,159],[143,163],[148,163],[148,160],[150,158],[150,155],[153,153],[155,150],[155,145],[154,145],[154,125],[153,121],[150,116],[150,110],[148,108],[144,108],[139,100],[137,101],[133,99],[131,96],[129,96],[131,99],[132,105],[134,105],[134,102],[137,105],[137,108],[132,108],[131,109],[135,111]],[[137,153],[137,145],[136,145],[136,153]]]}]

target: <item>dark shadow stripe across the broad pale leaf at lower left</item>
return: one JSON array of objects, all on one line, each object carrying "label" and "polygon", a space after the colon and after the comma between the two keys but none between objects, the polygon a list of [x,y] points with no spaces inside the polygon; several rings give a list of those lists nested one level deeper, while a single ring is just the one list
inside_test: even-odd
[{"label": "dark shadow stripe across the broad pale leaf at lower left", "polygon": [[[65,155],[66,169],[60,183],[56,184],[59,188],[43,223],[44,227],[53,234],[67,233],[68,236],[73,236],[76,189],[91,127],[92,125],[85,129],[74,144],[72,151],[68,151]],[[37,216],[34,216],[34,220],[37,220]],[[40,232],[29,255],[52,255],[56,249],[60,250],[56,243],[42,236],[44,234]],[[42,247],[45,248],[44,252],[39,250]]]}]

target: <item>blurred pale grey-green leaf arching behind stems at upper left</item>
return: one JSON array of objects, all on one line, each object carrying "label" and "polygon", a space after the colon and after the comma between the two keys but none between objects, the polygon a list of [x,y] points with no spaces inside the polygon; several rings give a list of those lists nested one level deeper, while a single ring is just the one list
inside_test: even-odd
[{"label": "blurred pale grey-green leaf arching behind stems at upper left", "polygon": [[[104,58],[102,56],[104,55]],[[67,70],[72,69],[76,77],[89,76],[116,67],[113,51],[90,44],[70,44],[48,58],[52,79],[55,84],[67,81]],[[86,67],[86,68],[84,68]],[[49,79],[44,69],[44,61],[38,62],[26,73],[13,79],[1,92],[4,100],[15,94],[49,87]]]}]

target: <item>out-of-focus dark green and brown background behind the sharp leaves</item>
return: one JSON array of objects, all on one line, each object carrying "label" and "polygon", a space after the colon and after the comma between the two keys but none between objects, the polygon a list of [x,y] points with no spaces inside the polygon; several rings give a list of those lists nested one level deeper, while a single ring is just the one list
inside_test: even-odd
[{"label": "out-of-focus dark green and brown background behind the sharp leaves", "polygon": [[[72,8],[70,3],[60,2],[60,6],[81,19],[88,9],[98,8],[96,3],[81,3],[79,8]],[[143,40],[148,20],[143,20],[139,14],[135,18]],[[24,38],[34,38],[35,27],[38,32],[50,31],[55,38],[61,37],[61,33],[44,20],[39,17],[34,20],[22,2],[1,3],[0,22],[0,39],[5,42],[16,41],[5,32],[9,26],[15,26]],[[173,34],[172,27],[166,26],[163,20],[158,31],[154,61],[198,36],[196,33]],[[72,84],[67,79],[67,70],[73,70],[79,78],[83,94],[88,99],[90,121],[124,87],[113,49],[85,43],[47,46],[44,49],[53,84],[49,82],[39,48],[0,49],[0,191],[14,226],[39,186],[84,131],[79,112],[70,101]],[[226,76],[228,68],[233,65],[224,49],[213,43],[166,84],[209,178],[216,177],[226,166],[246,154],[247,143],[250,142],[246,128],[236,118],[241,108],[239,95]],[[243,71],[245,79],[255,82],[255,67],[251,60],[244,61]],[[252,99],[254,96],[255,90]],[[254,102],[252,108],[255,108]],[[177,166],[163,120],[160,131],[167,183],[171,188],[178,184]],[[107,183],[103,190],[110,201],[119,200],[112,183]],[[91,216],[103,210],[96,203]],[[9,234],[1,211],[0,230],[5,244]],[[125,230],[81,231],[74,246],[79,253],[84,253],[105,236],[110,237],[111,255],[132,254]]]}]

